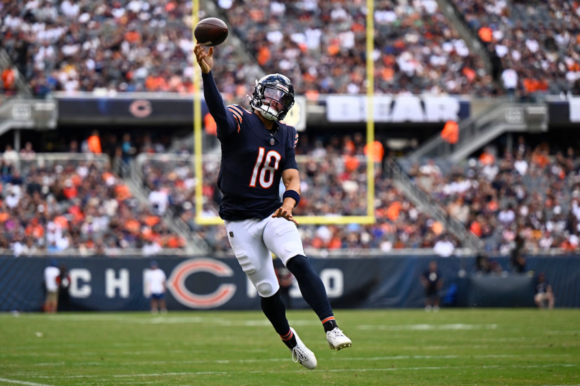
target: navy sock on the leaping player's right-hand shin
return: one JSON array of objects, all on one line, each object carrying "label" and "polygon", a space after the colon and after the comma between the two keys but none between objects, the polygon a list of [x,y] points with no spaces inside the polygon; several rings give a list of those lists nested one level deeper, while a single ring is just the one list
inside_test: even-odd
[{"label": "navy sock on the leaping player's right-hand shin", "polygon": [[314,272],[306,256],[296,255],[288,260],[286,267],[294,275],[302,297],[322,321],[332,317],[332,307],[320,277]]}]

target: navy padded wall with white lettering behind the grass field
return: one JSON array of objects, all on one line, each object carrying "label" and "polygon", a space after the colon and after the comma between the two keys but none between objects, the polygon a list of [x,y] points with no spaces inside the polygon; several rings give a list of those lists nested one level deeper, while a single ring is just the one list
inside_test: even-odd
[{"label": "navy padded wall with white lettering behind the grass field", "polygon": [[[41,311],[43,272],[53,256],[0,257],[0,311]],[[260,302],[234,258],[156,256],[168,276],[170,310],[259,310]],[[148,310],[143,275],[151,258],[58,258],[71,276],[71,310]],[[423,306],[419,275],[437,260],[444,277],[443,306],[533,307],[535,273],[553,284],[556,307],[580,307],[580,256],[527,258],[528,274],[473,274],[473,257],[386,256],[311,258],[335,308],[414,308]],[[494,258],[509,269],[507,258]],[[455,296],[449,295],[454,292]],[[445,300],[445,297],[448,299]],[[307,308],[298,286],[292,308]]]}]

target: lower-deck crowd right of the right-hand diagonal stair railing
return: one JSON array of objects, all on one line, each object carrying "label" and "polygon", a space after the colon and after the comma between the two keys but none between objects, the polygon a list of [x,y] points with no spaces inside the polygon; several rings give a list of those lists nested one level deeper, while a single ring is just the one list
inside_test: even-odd
[{"label": "lower-deck crowd right of the right-hand diagonal stair railing", "polygon": [[409,174],[448,213],[506,255],[552,248],[580,250],[580,162],[573,148],[531,149],[520,137],[513,151],[488,146],[478,159],[459,165],[429,160]]}]

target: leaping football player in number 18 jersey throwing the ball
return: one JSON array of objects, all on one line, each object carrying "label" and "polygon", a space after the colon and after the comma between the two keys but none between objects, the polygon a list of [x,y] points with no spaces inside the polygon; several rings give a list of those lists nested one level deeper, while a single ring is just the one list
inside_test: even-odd
[{"label": "leaping football player in number 18 jersey throwing the ball", "polygon": [[[197,44],[194,52],[222,147],[219,215],[238,263],[258,291],[264,314],[292,351],[293,361],[314,369],[316,356],[288,323],[272,253],[296,278],[302,296],[322,322],[328,345],[341,350],[350,347],[351,340],[336,325],[324,284],[306,259],[292,216],[300,201],[298,133],[281,120],[294,104],[294,87],[286,76],[270,74],[256,81],[251,111],[235,104],[226,107],[213,79],[213,49],[206,51]],[[283,201],[280,179],[285,186]]]}]

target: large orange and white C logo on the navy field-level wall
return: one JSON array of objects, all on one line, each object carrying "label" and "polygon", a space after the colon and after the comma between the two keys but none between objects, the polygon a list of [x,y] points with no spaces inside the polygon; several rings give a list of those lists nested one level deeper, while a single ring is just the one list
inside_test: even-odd
[{"label": "large orange and white C logo on the navy field-level wall", "polygon": [[198,272],[211,273],[218,277],[234,275],[234,271],[219,260],[186,260],[173,269],[168,280],[168,289],[177,302],[190,308],[215,308],[227,303],[234,296],[235,284],[221,284],[215,291],[204,295],[191,292],[187,289],[185,281],[190,275]]}]

